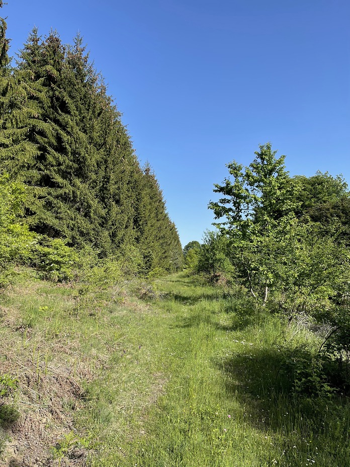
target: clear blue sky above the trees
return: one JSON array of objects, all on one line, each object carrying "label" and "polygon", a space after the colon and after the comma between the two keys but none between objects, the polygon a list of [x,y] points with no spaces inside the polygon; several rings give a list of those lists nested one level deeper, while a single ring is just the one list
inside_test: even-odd
[{"label": "clear blue sky above the trees", "polygon": [[258,144],[291,175],[350,182],[348,0],[8,0],[14,55],[33,26],[80,31],[152,165],[181,241],[201,240],[214,183]]}]

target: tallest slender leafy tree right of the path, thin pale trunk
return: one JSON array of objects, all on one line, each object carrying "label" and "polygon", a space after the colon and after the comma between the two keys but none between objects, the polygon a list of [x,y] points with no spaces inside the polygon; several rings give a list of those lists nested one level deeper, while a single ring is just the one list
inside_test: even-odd
[{"label": "tallest slender leafy tree right of the path, thin pale trunk", "polygon": [[253,296],[264,290],[264,302],[274,280],[271,247],[284,237],[281,224],[288,223],[296,208],[294,185],[288,183],[285,156],[276,159],[271,144],[259,146],[255,159],[245,167],[235,161],[227,165],[230,177],[214,192],[223,195],[209,208],[217,225],[229,237],[230,258]]}]

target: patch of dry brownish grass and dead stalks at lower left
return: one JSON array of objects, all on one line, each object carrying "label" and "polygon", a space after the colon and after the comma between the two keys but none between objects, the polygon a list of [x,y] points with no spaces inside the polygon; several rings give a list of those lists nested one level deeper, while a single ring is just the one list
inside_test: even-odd
[{"label": "patch of dry brownish grass and dead stalks at lower left", "polygon": [[[15,308],[3,313],[2,328],[0,374],[17,380],[14,394],[1,401],[2,462],[54,465],[52,446],[74,430],[73,414],[83,397],[81,380],[92,377],[91,369],[77,360],[76,343],[45,340],[21,324]],[[83,465],[86,452],[72,446],[69,456],[75,456],[74,464]]]}]

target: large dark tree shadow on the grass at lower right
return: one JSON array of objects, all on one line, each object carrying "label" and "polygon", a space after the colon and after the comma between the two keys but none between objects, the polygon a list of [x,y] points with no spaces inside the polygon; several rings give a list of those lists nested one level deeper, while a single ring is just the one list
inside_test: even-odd
[{"label": "large dark tree shadow on the grass at lower right", "polygon": [[281,465],[299,465],[301,458],[307,462],[323,454],[328,460],[322,465],[350,466],[349,400],[296,394],[295,374],[285,371],[286,355],[277,347],[253,349],[245,344],[244,350],[216,361],[216,366],[224,373],[227,397],[238,400],[245,423],[278,435]]}]

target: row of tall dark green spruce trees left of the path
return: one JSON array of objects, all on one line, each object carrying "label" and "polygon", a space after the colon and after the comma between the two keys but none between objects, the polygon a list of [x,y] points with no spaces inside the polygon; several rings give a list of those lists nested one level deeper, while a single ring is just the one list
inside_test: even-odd
[{"label": "row of tall dark green spruce trees left of the path", "polygon": [[159,184],[140,167],[82,38],[65,45],[34,28],[13,65],[6,29],[0,19],[0,171],[25,185],[30,230],[102,258],[136,247],[143,272],[180,269]]}]

